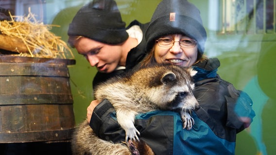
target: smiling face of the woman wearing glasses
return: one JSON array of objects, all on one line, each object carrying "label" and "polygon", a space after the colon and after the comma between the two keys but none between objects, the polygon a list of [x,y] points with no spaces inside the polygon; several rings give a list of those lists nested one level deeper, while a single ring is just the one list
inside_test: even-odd
[{"label": "smiling face of the woman wearing glasses", "polygon": [[[182,34],[167,35],[161,38],[180,41],[191,39]],[[154,57],[157,63],[170,62],[175,65],[190,67],[197,59],[197,45],[192,48],[181,47],[179,42],[175,42],[172,47],[160,47],[155,43]]]}]

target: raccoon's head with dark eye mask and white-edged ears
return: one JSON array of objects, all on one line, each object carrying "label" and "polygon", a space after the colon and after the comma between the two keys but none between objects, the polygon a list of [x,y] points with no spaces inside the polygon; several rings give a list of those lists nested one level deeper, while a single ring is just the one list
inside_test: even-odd
[{"label": "raccoon's head with dark eye mask and white-edged ears", "polygon": [[[198,109],[199,104],[194,97],[192,90],[194,83],[191,77],[197,72],[188,69],[173,70],[165,72],[159,79],[161,85],[151,88],[152,93],[148,93],[149,98],[160,109]],[[185,69],[185,70],[183,70]]]}]

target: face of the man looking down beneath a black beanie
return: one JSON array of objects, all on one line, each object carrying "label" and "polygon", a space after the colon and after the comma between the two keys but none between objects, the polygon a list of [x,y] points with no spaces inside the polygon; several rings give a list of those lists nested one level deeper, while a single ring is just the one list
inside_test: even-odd
[{"label": "face of the man looking down beneath a black beanie", "polygon": [[95,40],[81,37],[74,47],[78,53],[85,56],[91,66],[97,67],[99,72],[110,73],[120,65],[121,46],[109,45]]}]

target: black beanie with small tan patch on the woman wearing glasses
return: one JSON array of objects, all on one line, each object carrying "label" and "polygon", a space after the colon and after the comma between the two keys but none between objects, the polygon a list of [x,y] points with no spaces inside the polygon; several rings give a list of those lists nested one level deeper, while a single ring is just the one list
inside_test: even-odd
[{"label": "black beanie with small tan patch on the woman wearing glasses", "polygon": [[187,0],[163,0],[158,4],[145,34],[147,51],[156,39],[170,34],[184,34],[195,39],[198,51],[203,54],[207,34],[200,11]]}]

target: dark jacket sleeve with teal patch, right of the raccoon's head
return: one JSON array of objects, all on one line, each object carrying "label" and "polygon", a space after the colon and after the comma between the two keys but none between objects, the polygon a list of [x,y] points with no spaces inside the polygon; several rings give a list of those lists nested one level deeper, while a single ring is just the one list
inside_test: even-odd
[{"label": "dark jacket sleeve with teal patch, right of the raccoon's head", "polygon": [[255,116],[250,97],[220,77],[197,81],[193,94],[202,107],[196,114],[222,139],[235,141],[244,129],[240,117]]}]

